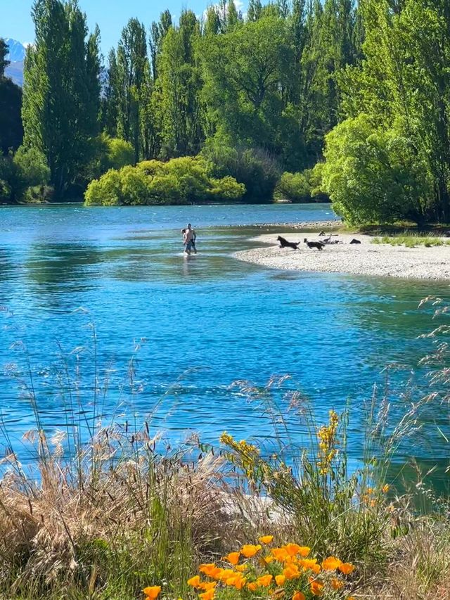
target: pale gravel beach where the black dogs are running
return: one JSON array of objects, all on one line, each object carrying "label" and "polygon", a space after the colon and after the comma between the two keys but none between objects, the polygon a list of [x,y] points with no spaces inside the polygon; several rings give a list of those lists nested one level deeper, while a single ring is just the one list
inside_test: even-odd
[{"label": "pale gravel beach where the black dogs are running", "polygon": [[[305,226],[303,226],[305,225]],[[330,231],[330,224],[323,223],[324,231]],[[328,227],[326,226],[328,225]],[[311,224],[308,224],[309,231]],[[317,226],[317,224],[314,224]],[[326,245],[319,251],[309,249],[303,238],[319,241],[317,233],[306,233],[306,224],[300,224],[299,231],[279,234],[289,241],[301,241],[300,250],[279,248],[276,240],[278,234],[270,234],[252,238],[262,244],[261,248],[243,250],[235,254],[239,260],[262,264],[275,269],[298,270],[309,272],[349,273],[353,275],[374,275],[400,277],[404,279],[450,279],[450,245],[449,238],[442,238],[444,245],[426,248],[392,246],[390,244],[373,243],[373,236],[362,234],[338,234],[333,240],[342,243]],[[303,234],[302,231],[305,233]],[[361,244],[350,244],[352,238]]]}]

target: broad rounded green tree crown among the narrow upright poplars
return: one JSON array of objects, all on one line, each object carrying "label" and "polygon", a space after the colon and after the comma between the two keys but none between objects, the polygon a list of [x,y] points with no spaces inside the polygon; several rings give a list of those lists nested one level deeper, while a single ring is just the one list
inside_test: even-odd
[{"label": "broad rounded green tree crown among the narrow upright poplars", "polygon": [[203,40],[207,119],[229,143],[280,153],[281,87],[288,83],[292,51],[286,25],[260,18]]}]

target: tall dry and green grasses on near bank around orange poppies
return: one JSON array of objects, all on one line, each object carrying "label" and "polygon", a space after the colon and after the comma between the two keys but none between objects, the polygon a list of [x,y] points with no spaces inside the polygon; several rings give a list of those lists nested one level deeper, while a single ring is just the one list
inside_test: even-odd
[{"label": "tall dry and green grasses on near bank around orange poppies", "polygon": [[[445,317],[442,301],[428,300]],[[418,480],[416,492],[397,496],[395,482],[388,480],[399,444],[416,439],[420,410],[448,401],[446,332],[440,326],[430,333],[439,341],[437,352],[423,360],[438,391],[406,402],[399,421],[393,421],[386,397],[374,395],[367,403],[366,445],[356,471],[347,465],[352,418],[347,411],[330,411],[327,423],[317,423],[309,403],[292,393],[290,410],[309,429],[309,444],[299,447],[290,440],[276,409],[283,379],[273,379],[265,388],[238,384],[273,419],[276,447],[271,445],[270,452],[227,433],[219,448],[199,442],[162,452],[147,421],[141,426],[91,426],[86,440],[78,427],[48,438],[29,386],[37,425],[26,437],[34,446],[39,477],[27,475],[12,451],[2,459],[0,598],[134,600],[143,599],[145,587],[155,594],[153,586],[158,586],[161,599],[194,599],[202,590],[188,580],[202,563],[214,563],[221,579],[215,592],[202,592],[207,595],[201,600],[212,600],[212,595],[217,600],[281,597],[283,589],[286,599],[298,592],[296,600],[302,594],[309,600],[314,582],[324,585],[316,589],[324,600],[343,600],[349,594],[356,599],[449,597],[449,504],[439,499],[423,514],[416,499],[425,483]],[[74,387],[67,371],[65,381]],[[93,393],[95,405],[97,385]],[[75,422],[77,405],[72,402]],[[7,430],[2,433],[8,439]],[[247,565],[245,575],[227,574],[231,565],[224,556],[245,552],[245,544],[256,548],[262,535],[274,540],[262,543],[255,556],[238,556]],[[342,573],[336,562],[333,570],[323,567],[318,574],[312,563],[304,566],[295,550],[294,558],[259,560],[270,556],[273,547],[292,549],[286,544],[293,542],[309,547],[308,558],[319,565],[336,556],[354,570]],[[307,570],[295,575],[300,566]],[[214,584],[201,569],[203,581]],[[246,585],[283,575],[285,569],[291,575],[293,569],[294,575],[278,592],[273,580],[255,591]],[[248,581],[239,589],[242,577]],[[338,585],[333,578],[342,587],[333,588]]]}]

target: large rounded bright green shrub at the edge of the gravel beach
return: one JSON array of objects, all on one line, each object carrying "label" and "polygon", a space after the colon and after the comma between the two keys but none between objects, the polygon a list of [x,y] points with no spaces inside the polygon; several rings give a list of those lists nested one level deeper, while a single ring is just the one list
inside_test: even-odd
[{"label": "large rounded bright green shrub at the edge of the gravel beach", "polygon": [[323,188],[349,224],[425,220],[428,171],[401,124],[373,127],[361,114],[326,136]]}]

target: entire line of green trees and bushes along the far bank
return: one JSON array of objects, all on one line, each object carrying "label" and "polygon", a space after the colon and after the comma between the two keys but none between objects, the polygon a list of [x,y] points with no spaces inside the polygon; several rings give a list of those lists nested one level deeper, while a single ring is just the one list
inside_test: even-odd
[{"label": "entire line of green trees and bushes along the far bank", "polygon": [[36,0],[33,18],[0,199],[99,179],[89,201],[110,186],[123,203],[132,180],[136,203],[174,186],[167,202],[330,197],[348,222],[450,222],[448,0],[220,0],[129,20],[106,60],[76,0]]}]

